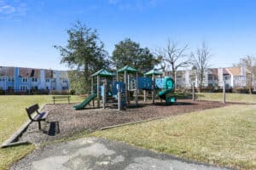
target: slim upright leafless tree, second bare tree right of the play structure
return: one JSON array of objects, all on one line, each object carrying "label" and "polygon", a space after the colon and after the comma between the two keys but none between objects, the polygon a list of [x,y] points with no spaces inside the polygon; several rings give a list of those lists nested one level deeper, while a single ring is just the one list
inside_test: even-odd
[{"label": "slim upright leafless tree, second bare tree right of the play structure", "polygon": [[197,48],[196,53],[191,54],[191,64],[196,67],[196,74],[199,81],[199,90],[201,91],[205,73],[210,67],[211,52],[206,42],[202,42],[201,48]]}]

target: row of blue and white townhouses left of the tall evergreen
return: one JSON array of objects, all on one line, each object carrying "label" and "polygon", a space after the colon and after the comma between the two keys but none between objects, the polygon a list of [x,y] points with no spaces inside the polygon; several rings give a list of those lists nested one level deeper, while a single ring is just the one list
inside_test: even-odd
[{"label": "row of blue and white townhouses left of the tall evergreen", "polygon": [[69,88],[67,71],[0,66],[0,90],[62,91]]}]

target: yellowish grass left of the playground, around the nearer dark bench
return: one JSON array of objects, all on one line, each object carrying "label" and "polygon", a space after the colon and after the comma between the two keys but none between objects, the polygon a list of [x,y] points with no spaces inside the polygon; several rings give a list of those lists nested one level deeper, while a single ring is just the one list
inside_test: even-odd
[{"label": "yellowish grass left of the playground, around the nearer dark bench", "polygon": [[[72,96],[71,102],[79,102],[81,99]],[[63,101],[67,102],[67,101]],[[9,139],[15,131],[28,120],[25,108],[38,103],[43,106],[52,103],[51,95],[7,95],[0,96],[0,144]],[[0,169],[6,169],[9,163],[26,156],[34,149],[32,144],[14,148],[0,149]]]}]

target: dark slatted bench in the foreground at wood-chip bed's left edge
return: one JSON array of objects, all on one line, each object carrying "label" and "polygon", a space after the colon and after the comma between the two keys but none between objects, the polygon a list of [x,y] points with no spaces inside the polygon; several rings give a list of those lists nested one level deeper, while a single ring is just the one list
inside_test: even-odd
[{"label": "dark slatted bench in the foreground at wood-chip bed's left edge", "polygon": [[[32,105],[32,106],[26,108],[26,113],[32,122],[38,122],[38,128],[39,128],[39,130],[41,130],[41,121],[46,120],[46,117],[48,116],[49,112],[45,111],[45,112],[40,113],[38,111],[38,109],[39,109],[38,104]],[[35,112],[37,113],[37,115],[32,116],[32,114]]]}]

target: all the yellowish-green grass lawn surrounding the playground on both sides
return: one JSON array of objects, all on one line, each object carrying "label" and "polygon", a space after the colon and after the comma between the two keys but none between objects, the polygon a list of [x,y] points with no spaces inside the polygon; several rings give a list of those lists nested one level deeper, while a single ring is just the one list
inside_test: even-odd
[{"label": "all the yellowish-green grass lawn surrounding the playground on both sides", "polygon": [[[198,97],[221,100],[222,94],[201,94]],[[256,103],[256,97],[248,94],[227,94],[227,99]],[[52,103],[51,100],[50,95],[0,96],[0,143],[28,120],[25,107],[35,103],[43,106],[45,103]],[[80,98],[72,96],[72,102],[80,101]],[[256,168],[255,109],[254,105],[230,106],[114,128],[93,135],[197,161]],[[73,139],[83,136],[88,136],[87,132],[74,136]],[[34,149],[32,144],[0,149],[0,169],[6,169],[10,163]]]}]

